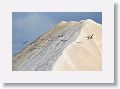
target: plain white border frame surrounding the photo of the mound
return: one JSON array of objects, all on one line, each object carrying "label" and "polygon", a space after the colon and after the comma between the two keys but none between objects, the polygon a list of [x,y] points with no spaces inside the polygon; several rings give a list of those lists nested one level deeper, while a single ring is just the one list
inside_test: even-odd
[{"label": "plain white border frame surrounding the photo of the mound", "polygon": [[[112,0],[3,0],[0,4],[0,82],[114,83]],[[102,71],[12,71],[12,12],[102,12]]]}]

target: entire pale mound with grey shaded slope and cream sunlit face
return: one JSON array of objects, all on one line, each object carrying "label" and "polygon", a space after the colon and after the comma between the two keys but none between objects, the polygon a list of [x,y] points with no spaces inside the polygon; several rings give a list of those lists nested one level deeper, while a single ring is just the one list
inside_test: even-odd
[{"label": "entire pale mound with grey shaded slope and cream sunlit face", "polygon": [[101,71],[102,25],[61,21],[13,57],[13,71]]}]

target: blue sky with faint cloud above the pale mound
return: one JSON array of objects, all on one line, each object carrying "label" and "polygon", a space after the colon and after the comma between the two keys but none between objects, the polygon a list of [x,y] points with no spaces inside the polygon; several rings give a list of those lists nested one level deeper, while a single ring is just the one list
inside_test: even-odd
[{"label": "blue sky with faint cloud above the pale mound", "polygon": [[101,12],[13,12],[12,53],[15,55],[60,21],[92,19],[102,24]]}]

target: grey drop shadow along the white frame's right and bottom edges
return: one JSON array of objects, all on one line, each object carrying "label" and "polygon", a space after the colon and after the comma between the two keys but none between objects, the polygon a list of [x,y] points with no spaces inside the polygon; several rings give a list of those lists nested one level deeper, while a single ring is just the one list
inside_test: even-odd
[{"label": "grey drop shadow along the white frame's right and bottom edges", "polygon": [[4,83],[4,87],[117,87],[118,86],[118,4],[114,4],[114,83]]}]

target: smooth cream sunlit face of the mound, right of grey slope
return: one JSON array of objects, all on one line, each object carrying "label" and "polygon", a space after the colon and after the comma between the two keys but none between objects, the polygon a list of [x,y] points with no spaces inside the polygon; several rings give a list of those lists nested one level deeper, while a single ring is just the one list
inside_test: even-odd
[{"label": "smooth cream sunlit face of the mound, right of grey slope", "polygon": [[[53,70],[102,70],[101,25],[88,20],[78,38],[72,42],[57,59]],[[92,39],[86,36],[93,35]]]}]

